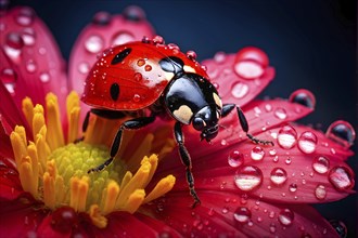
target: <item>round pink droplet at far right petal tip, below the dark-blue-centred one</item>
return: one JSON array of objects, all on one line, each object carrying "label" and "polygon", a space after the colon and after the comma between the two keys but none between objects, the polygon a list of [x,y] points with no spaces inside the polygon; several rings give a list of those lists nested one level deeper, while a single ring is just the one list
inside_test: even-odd
[{"label": "round pink droplet at far right petal tip, below the dark-blue-centred one", "polygon": [[355,185],[354,173],[347,167],[334,167],[330,170],[329,181],[337,190],[348,190]]}]

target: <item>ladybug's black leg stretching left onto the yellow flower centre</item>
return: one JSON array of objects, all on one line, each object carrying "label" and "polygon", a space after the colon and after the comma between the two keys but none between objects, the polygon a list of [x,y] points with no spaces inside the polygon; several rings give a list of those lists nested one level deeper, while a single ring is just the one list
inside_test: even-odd
[{"label": "ladybug's black leg stretching left onto the yellow flower centre", "polygon": [[114,159],[114,157],[117,155],[119,148],[120,148],[120,144],[122,144],[122,137],[123,137],[123,132],[125,130],[137,130],[137,129],[141,129],[150,123],[152,123],[155,120],[155,117],[140,117],[140,118],[136,118],[136,119],[131,119],[128,121],[125,121],[118,129],[116,136],[114,137],[113,142],[112,142],[112,146],[111,146],[111,153],[110,153],[110,159],[105,160],[102,164],[92,168],[88,171],[88,173],[91,172],[99,172],[101,170],[104,170],[104,168],[106,168],[107,166],[110,166]]}]

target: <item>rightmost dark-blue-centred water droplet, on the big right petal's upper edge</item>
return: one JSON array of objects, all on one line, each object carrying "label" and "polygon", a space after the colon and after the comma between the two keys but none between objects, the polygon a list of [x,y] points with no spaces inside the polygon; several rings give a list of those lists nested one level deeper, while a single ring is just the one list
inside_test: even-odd
[{"label": "rightmost dark-blue-centred water droplet, on the big right petal's upper edge", "polygon": [[332,141],[348,148],[356,138],[356,132],[347,121],[334,121],[325,132],[325,135]]}]

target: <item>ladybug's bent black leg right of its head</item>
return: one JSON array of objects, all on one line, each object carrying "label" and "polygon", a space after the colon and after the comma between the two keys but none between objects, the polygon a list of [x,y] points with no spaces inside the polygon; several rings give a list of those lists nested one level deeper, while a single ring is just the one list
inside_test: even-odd
[{"label": "ladybug's bent black leg right of its head", "polygon": [[263,144],[263,145],[272,145],[272,146],[274,145],[273,142],[271,142],[271,141],[259,140],[259,138],[255,137],[254,135],[252,135],[251,133],[248,133],[248,123],[247,123],[246,117],[245,117],[244,113],[241,110],[241,108],[239,106],[236,106],[235,104],[225,104],[222,106],[221,117],[228,116],[234,108],[236,108],[236,113],[238,113],[238,117],[239,117],[239,121],[240,121],[242,130],[246,133],[246,136],[252,142],[254,142],[256,144]]}]

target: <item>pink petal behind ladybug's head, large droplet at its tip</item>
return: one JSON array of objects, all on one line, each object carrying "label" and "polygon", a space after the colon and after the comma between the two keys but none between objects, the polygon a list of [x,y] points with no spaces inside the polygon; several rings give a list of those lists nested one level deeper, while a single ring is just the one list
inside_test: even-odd
[{"label": "pink petal behind ladybug's head, large droplet at its tip", "polygon": [[[243,53],[245,53],[246,56],[243,55]],[[253,61],[254,57],[251,57],[247,53],[256,55],[256,60]],[[274,69],[268,67],[267,61],[267,55],[259,49],[245,48],[236,54],[219,52],[213,60],[204,61],[203,65],[207,67],[207,74],[212,82],[218,88],[222,102],[238,103],[239,106],[244,106],[255,98],[273,79]],[[244,62],[247,67],[236,69],[235,66],[242,62]],[[261,72],[253,72],[255,68],[260,69]],[[243,74],[238,74],[238,70],[243,70]],[[254,77],[244,78],[243,75],[245,70],[248,70],[248,75],[253,72]]]}]

